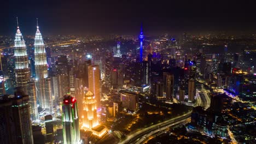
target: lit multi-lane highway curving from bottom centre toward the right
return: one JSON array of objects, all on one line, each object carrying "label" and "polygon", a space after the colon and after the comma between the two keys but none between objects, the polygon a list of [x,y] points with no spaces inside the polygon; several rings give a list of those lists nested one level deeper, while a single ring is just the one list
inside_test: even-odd
[{"label": "lit multi-lane highway curving from bottom centre toward the right", "polygon": [[[208,109],[208,107],[210,107],[210,103],[211,103],[211,99],[209,97],[209,95],[207,94],[207,90],[203,88],[202,85],[202,89],[201,91],[196,91],[196,97],[197,97],[197,101],[195,106],[202,106],[205,109]],[[168,127],[173,127],[175,125],[179,125],[179,124],[184,124],[185,122],[189,122],[191,117],[191,112],[185,113],[182,116],[178,116],[176,118],[172,118],[169,119],[165,122],[161,122],[159,124],[155,124],[152,125],[151,127],[142,129],[137,131],[136,133],[133,133],[129,136],[127,136],[127,138],[121,142],[121,144],[125,144],[125,143],[143,143],[145,141],[147,141],[149,139],[150,136],[153,136],[157,133],[159,133],[159,131],[164,130]]]}]

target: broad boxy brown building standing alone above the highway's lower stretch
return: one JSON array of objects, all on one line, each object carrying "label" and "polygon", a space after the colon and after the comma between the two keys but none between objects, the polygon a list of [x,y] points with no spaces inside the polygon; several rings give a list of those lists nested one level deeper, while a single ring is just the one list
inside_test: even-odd
[{"label": "broad boxy brown building standing alone above the highway's lower stretch", "polygon": [[120,100],[125,109],[138,110],[138,95],[133,92],[120,92]]}]

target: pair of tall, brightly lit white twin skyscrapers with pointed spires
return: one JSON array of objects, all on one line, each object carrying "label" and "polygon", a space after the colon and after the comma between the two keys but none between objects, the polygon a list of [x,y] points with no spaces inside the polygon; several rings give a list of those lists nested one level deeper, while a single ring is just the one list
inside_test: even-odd
[{"label": "pair of tall, brightly lit white twin skyscrapers with pointed spires", "polygon": [[[33,89],[28,86],[28,83],[31,82],[31,72],[30,68],[28,67],[28,56],[25,40],[22,37],[19,25],[17,27],[17,32],[15,35],[14,56],[17,86],[22,87],[24,89],[24,92],[26,92],[27,94],[31,94],[31,92],[28,92]],[[46,61],[44,41],[42,38],[42,34],[39,31],[38,23],[36,36],[34,38],[34,58],[36,67],[36,87],[34,89],[36,89],[36,95],[32,94],[30,95],[30,97],[37,97],[40,106],[45,109],[46,113],[51,113],[53,111],[53,102],[51,100],[51,82],[50,78],[48,77],[48,66]],[[36,102],[34,101],[32,103]],[[33,108],[36,107],[32,106],[32,109]],[[33,115],[33,113],[31,114]]]}]

